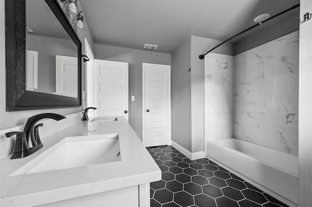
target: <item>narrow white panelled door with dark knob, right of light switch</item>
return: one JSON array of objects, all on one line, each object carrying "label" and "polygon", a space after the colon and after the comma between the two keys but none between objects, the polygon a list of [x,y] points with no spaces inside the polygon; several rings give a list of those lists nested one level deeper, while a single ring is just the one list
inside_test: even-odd
[{"label": "narrow white panelled door with dark knob, right of light switch", "polygon": [[145,146],[167,145],[170,122],[170,66],[143,63],[143,75]]}]

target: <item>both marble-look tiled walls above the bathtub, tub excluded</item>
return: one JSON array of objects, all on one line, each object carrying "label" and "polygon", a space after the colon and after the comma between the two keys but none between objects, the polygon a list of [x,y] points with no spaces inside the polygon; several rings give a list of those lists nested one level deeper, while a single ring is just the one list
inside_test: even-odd
[{"label": "both marble-look tiled walls above the bathtub, tub excluded", "polygon": [[235,56],[205,57],[205,139],[298,155],[299,31]]}]

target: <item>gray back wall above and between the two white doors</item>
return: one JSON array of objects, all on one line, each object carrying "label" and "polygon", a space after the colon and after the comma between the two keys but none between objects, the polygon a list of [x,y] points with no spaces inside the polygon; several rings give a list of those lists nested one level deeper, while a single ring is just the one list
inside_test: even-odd
[{"label": "gray back wall above and between the two white doors", "polygon": [[171,65],[171,54],[100,44],[94,44],[93,53],[95,59],[129,63],[129,123],[142,140],[142,63]]}]

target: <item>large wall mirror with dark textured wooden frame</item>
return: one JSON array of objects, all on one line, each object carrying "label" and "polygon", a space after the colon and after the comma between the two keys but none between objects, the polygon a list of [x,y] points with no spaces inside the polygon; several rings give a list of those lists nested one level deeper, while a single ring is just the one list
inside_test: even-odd
[{"label": "large wall mirror with dark textured wooden frame", "polygon": [[[57,0],[29,0],[30,5],[26,5],[27,2],[5,0],[6,111],[81,106],[81,42],[78,36]],[[34,7],[37,10],[30,10],[26,15],[26,8]],[[37,23],[36,18],[39,19]],[[47,32],[50,25],[53,28]],[[29,32],[31,27],[34,34]],[[69,59],[71,63],[66,68],[64,62]],[[36,62],[37,66],[33,64]],[[58,78],[61,76],[58,74],[66,73],[72,76],[71,80],[66,82],[62,77]],[[34,77],[37,74],[38,79],[30,78],[29,74],[35,74]],[[64,88],[70,92],[64,92]]]}]

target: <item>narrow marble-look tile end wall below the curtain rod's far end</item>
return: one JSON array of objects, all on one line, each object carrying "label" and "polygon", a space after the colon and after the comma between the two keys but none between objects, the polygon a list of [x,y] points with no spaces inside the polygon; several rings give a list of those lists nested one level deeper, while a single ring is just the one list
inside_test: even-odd
[{"label": "narrow marble-look tile end wall below the curtain rod's far end", "polygon": [[204,66],[205,139],[232,138],[234,57],[209,53]]}]

